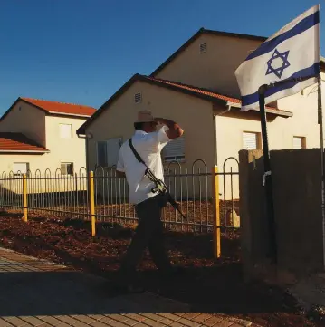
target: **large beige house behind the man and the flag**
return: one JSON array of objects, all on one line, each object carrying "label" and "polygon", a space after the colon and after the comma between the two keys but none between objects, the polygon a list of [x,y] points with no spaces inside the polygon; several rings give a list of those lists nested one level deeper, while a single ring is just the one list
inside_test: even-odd
[{"label": "large beige house behind the man and the flag", "polygon": [[[200,29],[149,76],[134,75],[77,130],[87,135],[88,167],[117,163],[119,146],[133,134],[133,121],[143,109],[184,128],[184,136],[163,152],[166,164],[176,160],[183,171],[192,171],[197,159],[205,161],[208,171],[215,165],[223,170],[225,159],[237,159],[240,149],[261,149],[260,113],[240,111],[234,71],[265,40]],[[312,91],[310,87],[266,108],[271,149],[320,147]],[[201,161],[198,167],[205,170]]]}]

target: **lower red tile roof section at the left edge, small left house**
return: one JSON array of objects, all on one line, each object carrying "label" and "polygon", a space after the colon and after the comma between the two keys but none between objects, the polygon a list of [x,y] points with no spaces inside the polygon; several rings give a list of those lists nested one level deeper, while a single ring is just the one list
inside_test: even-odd
[{"label": "lower red tile roof section at the left edge, small left house", "polygon": [[22,133],[0,132],[0,152],[48,152]]}]

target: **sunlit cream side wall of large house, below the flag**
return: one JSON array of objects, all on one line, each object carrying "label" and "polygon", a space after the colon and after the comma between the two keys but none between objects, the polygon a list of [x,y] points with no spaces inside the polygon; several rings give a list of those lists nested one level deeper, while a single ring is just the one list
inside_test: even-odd
[{"label": "sunlit cream side wall of large house, below the flag", "polygon": [[[293,137],[305,137],[307,148],[320,147],[320,128],[317,123],[317,93],[310,94],[314,88],[311,87],[302,93],[282,98],[279,106],[283,110],[292,111],[293,116],[282,118],[268,116],[268,138],[270,150],[273,149],[293,149]],[[215,108],[215,113],[222,109]],[[216,116],[216,142],[217,142],[217,164],[219,169],[223,169],[225,159],[234,157],[238,159],[238,151],[243,149],[243,132],[261,133],[260,115],[257,112],[240,112],[240,109],[232,109],[232,113]],[[237,170],[237,165],[233,159],[228,160],[225,171]],[[227,198],[231,197],[230,177],[226,177],[225,192]],[[237,176],[233,178],[234,197],[239,197]],[[224,180],[221,178],[223,187]]]}]

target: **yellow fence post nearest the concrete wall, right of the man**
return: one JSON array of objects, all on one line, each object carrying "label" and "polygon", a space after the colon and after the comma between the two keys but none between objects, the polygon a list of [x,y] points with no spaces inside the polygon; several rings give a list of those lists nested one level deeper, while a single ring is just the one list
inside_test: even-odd
[{"label": "yellow fence post nearest the concrete wall, right of the man", "polygon": [[212,189],[214,207],[214,256],[221,256],[221,233],[220,233],[220,207],[219,207],[219,175],[218,168],[212,168]]}]

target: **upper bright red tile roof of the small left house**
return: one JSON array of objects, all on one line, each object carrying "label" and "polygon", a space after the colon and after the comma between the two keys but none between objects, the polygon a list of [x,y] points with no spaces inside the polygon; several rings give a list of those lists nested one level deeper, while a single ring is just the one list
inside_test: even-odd
[{"label": "upper bright red tile roof of the small left house", "polygon": [[64,113],[64,114],[90,117],[96,111],[95,108],[89,106],[83,106],[81,104],[37,100],[31,98],[20,98],[20,99],[43,109],[43,111],[52,112],[52,113]]}]

